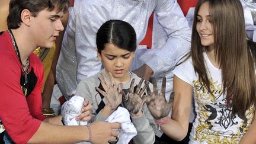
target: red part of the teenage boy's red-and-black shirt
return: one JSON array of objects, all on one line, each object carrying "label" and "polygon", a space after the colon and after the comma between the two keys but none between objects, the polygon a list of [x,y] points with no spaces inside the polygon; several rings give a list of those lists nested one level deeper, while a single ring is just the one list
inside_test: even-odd
[{"label": "red part of the teenage boy's red-and-black shirt", "polygon": [[0,119],[15,143],[27,143],[45,119],[42,113],[41,87],[43,65],[30,55],[30,71],[36,75],[36,85],[25,97],[21,89],[21,63],[15,53],[8,31],[0,35]]}]

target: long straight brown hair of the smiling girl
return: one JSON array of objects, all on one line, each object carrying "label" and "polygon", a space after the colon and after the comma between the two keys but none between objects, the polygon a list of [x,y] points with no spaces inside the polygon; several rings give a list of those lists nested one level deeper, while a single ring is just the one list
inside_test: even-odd
[{"label": "long straight brown hair of the smiling girl", "polygon": [[[255,63],[247,46],[244,12],[239,0],[199,0],[192,28],[191,57],[199,79],[210,94],[210,82],[204,63],[204,46],[196,30],[200,5],[209,2],[209,14],[215,41],[215,56],[222,69],[223,91],[231,94],[232,113],[242,114],[255,105]],[[206,47],[207,49],[207,47]],[[228,98],[229,100],[229,98]],[[255,105],[256,106],[256,105]]]}]

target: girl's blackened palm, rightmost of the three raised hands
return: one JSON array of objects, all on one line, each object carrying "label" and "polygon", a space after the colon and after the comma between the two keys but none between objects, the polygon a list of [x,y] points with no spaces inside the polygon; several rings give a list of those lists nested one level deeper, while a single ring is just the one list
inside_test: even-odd
[{"label": "girl's blackened palm, rightmost of the three raised hands", "polygon": [[153,92],[149,88],[147,88],[148,94],[152,97],[146,101],[148,105],[149,111],[151,111],[152,116],[155,120],[162,119],[168,116],[169,112],[172,108],[172,102],[174,98],[174,91],[171,92],[169,96],[169,102],[165,100],[165,87],[166,87],[166,78],[162,79],[162,88],[161,93],[158,94],[158,87],[156,85],[156,79],[152,76],[152,83],[153,83]]}]

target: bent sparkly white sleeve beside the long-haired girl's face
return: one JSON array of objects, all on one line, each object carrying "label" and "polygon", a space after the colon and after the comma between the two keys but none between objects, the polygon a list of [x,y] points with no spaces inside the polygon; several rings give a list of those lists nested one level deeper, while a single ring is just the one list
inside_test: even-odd
[{"label": "bent sparkly white sleeve beside the long-haired girl's face", "polygon": [[[174,69],[178,58],[189,51],[191,30],[177,1],[158,0],[154,12],[168,39],[164,46],[149,50],[139,60],[157,75],[163,68],[165,71]],[[149,55],[152,57],[150,60]]]}]

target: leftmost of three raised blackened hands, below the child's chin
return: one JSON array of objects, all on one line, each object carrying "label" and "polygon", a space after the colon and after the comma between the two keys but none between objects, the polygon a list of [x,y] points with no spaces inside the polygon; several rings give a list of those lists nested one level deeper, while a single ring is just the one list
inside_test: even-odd
[{"label": "leftmost of three raised blackened hands, below the child's chin", "polygon": [[96,88],[100,94],[102,94],[107,99],[107,104],[105,106],[109,107],[111,111],[113,112],[116,110],[116,108],[121,104],[122,100],[122,93],[123,93],[123,84],[119,84],[119,88],[117,89],[113,75],[109,73],[110,75],[110,81],[107,80],[107,76],[101,73],[101,75],[98,77],[101,81],[101,85],[103,86],[103,90],[100,88]]}]

